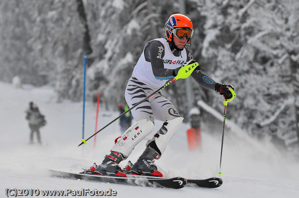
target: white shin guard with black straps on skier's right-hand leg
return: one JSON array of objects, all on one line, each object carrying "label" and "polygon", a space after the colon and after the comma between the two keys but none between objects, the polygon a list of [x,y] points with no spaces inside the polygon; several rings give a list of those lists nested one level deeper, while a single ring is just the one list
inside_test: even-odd
[{"label": "white shin guard with black straps on skier's right-hand leg", "polygon": [[184,118],[179,117],[170,121],[166,121],[161,129],[154,134],[154,137],[148,141],[147,146],[155,149],[160,155],[163,154],[168,142],[177,129],[181,126],[183,120]]}]

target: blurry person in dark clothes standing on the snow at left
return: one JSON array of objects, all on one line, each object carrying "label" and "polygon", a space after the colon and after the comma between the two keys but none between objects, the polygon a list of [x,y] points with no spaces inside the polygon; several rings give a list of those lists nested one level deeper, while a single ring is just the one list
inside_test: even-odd
[{"label": "blurry person in dark clothes standing on the snow at left", "polygon": [[33,135],[36,133],[38,143],[41,143],[39,129],[46,125],[45,117],[39,112],[38,107],[29,103],[29,109],[26,111],[26,120],[28,120],[30,128],[30,143],[33,143]]}]

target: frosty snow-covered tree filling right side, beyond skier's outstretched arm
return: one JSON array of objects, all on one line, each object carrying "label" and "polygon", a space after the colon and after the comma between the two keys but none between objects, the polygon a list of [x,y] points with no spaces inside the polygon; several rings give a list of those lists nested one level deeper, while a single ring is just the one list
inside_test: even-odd
[{"label": "frosty snow-covered tree filling right side, beyond skier's outstretched arm", "polygon": [[[213,77],[236,86],[237,99],[228,113],[252,134],[271,133],[287,144],[290,139],[298,143],[294,101],[298,98],[299,2],[207,2],[202,55],[217,60]],[[220,109],[221,103],[216,104]]]}]

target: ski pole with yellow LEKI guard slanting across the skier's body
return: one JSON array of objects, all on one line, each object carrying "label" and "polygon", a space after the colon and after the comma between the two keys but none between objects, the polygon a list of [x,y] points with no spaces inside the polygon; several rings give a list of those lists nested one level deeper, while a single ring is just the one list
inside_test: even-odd
[{"label": "ski pole with yellow LEKI guard slanting across the skier's body", "polygon": [[114,119],[113,121],[111,121],[110,123],[108,123],[105,127],[103,127],[102,129],[100,129],[99,131],[95,132],[93,135],[91,135],[90,137],[88,137],[87,139],[82,139],[82,142],[78,145],[81,146],[83,143],[86,144],[86,141],[89,140],[91,137],[93,137],[94,135],[96,135],[98,132],[101,132],[102,130],[104,130],[106,127],[108,127],[109,125],[111,125],[112,123],[114,123],[117,119],[119,119],[120,117],[122,117],[123,115],[125,115],[126,113],[128,113],[129,111],[131,111],[133,108],[135,108],[137,105],[139,105],[140,103],[143,103],[145,100],[147,100],[149,97],[151,97],[152,95],[154,95],[155,93],[159,92],[161,89],[163,89],[164,87],[168,86],[170,83],[174,82],[175,80],[178,79],[184,79],[187,78],[191,75],[191,73],[193,72],[193,70],[198,66],[198,63],[192,63],[190,65],[187,66],[182,66],[177,73],[177,75],[172,78],[170,81],[168,81],[166,84],[164,84],[162,87],[158,88],[157,90],[155,90],[153,93],[151,93],[149,96],[147,96],[146,98],[144,98],[143,100],[141,100],[140,102],[138,102],[137,104],[135,104],[133,107],[131,107],[130,109],[128,109],[127,111],[125,111],[124,113],[122,113],[121,115],[119,115],[116,119]]}]

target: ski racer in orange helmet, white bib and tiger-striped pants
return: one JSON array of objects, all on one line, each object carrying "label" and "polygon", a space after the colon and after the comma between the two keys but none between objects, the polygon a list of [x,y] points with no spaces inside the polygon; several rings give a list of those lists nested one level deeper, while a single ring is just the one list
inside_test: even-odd
[{"label": "ski racer in orange helmet, white bib and tiger-striped pants", "polygon": [[[129,79],[125,91],[129,107],[134,106],[149,94],[163,86],[167,80],[177,75],[181,66],[194,63],[193,57],[187,48],[191,46],[193,24],[183,14],[172,14],[165,23],[166,38],[153,39],[146,43],[144,51],[134,67],[132,77]],[[216,83],[213,79],[195,68],[191,76],[203,87],[223,95],[226,99],[232,98],[229,87]],[[90,168],[91,174],[126,177],[125,170],[118,165],[127,159],[134,147],[154,129],[154,120],[164,122],[162,127],[146,144],[146,149],[137,162],[126,169],[137,175],[162,177],[153,163],[159,159],[166,149],[166,145],[173,134],[181,126],[183,118],[179,115],[173,104],[157,92],[148,100],[131,110],[137,121],[121,137],[116,140],[99,166]],[[130,165],[130,164],[129,164]]]}]

